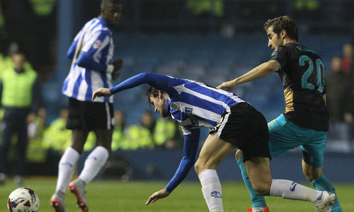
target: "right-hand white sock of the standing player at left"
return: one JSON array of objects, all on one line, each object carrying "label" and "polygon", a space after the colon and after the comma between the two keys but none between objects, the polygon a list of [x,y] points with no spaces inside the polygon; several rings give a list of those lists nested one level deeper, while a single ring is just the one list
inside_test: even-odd
[{"label": "right-hand white sock of the standing player at left", "polygon": [[79,179],[84,180],[86,184],[91,182],[101,170],[105,161],[108,159],[108,150],[103,146],[97,146],[85,160],[84,170],[82,170]]}]

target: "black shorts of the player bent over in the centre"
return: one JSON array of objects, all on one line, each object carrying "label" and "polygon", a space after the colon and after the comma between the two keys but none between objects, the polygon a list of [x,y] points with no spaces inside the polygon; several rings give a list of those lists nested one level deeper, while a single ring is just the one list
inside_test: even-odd
[{"label": "black shorts of the player bent over in the centre", "polygon": [[268,147],[268,124],[263,114],[247,102],[238,103],[224,112],[219,123],[210,131],[241,149],[244,161],[252,157],[271,158]]}]

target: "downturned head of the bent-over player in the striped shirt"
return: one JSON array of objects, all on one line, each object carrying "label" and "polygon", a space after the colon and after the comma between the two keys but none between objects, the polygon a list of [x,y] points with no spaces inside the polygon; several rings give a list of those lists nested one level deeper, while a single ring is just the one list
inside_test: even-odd
[{"label": "downturned head of the bent-over player in the striped shirt", "polygon": [[166,110],[167,94],[157,88],[150,87],[147,90],[147,100],[155,107],[155,112],[159,112],[161,117],[168,117]]}]

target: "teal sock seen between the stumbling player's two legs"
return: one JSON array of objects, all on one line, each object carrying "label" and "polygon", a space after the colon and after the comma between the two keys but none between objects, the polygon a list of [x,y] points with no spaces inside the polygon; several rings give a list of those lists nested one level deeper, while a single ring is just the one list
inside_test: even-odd
[{"label": "teal sock seen between the stumbling player's two legs", "polygon": [[242,178],[244,179],[244,184],[246,184],[247,189],[249,189],[249,194],[251,196],[252,208],[255,207],[265,207],[264,196],[257,194],[257,192],[253,189],[251,181],[249,180],[249,175],[247,175],[246,167],[244,166],[244,158],[241,157],[237,160],[237,164],[240,167]]}]

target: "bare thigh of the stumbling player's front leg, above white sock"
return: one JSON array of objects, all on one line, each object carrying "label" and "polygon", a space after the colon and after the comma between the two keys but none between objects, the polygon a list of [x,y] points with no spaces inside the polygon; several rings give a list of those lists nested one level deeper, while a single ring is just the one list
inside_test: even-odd
[{"label": "bare thigh of the stumbling player's front leg, above white sock", "polygon": [[216,169],[219,163],[236,149],[232,143],[220,139],[215,134],[210,134],[202,146],[199,158],[195,163],[195,171],[198,175],[202,170]]}]

